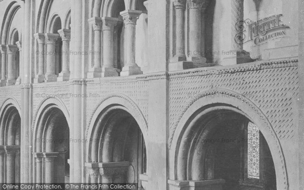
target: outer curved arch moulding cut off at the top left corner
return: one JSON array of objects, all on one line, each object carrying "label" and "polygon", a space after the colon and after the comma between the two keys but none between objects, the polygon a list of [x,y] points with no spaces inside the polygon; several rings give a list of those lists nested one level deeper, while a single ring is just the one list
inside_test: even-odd
[{"label": "outer curved arch moulding cut off at the top left corner", "polygon": [[17,3],[16,1],[13,1],[8,6],[6,13],[3,18],[2,22],[2,30],[1,30],[1,44],[6,45],[9,41],[9,28],[11,25],[11,22],[13,21],[15,13],[21,8],[21,5]]}]

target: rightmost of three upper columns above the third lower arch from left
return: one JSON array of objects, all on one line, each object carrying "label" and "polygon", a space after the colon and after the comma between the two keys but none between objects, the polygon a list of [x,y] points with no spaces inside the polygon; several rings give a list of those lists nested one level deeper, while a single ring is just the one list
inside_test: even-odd
[{"label": "rightmost of three upper columns above the third lower arch from left", "polygon": [[135,33],[136,33],[136,21],[141,15],[142,11],[127,10],[121,12],[121,16],[124,18],[126,27],[125,44],[126,49],[126,61],[121,71],[121,76],[128,76],[134,74],[142,74],[140,67],[135,63]]}]

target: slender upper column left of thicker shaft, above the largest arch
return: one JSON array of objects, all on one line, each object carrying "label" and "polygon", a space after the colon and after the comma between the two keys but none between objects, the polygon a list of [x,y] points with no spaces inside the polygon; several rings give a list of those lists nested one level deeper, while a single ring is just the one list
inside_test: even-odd
[{"label": "slender upper column left of thicker shaft, above the largest arch", "polygon": [[185,61],[185,7],[186,0],[173,0],[175,8],[175,55],[171,62]]}]

